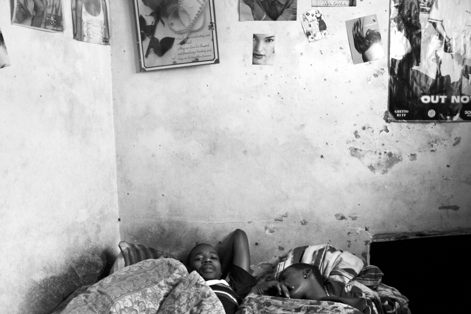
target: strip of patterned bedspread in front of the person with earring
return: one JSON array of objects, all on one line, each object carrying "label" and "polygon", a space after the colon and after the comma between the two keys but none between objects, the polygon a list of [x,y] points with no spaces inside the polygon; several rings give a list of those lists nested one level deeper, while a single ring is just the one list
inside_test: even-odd
[{"label": "strip of patterned bedspread in front of the person with earring", "polygon": [[253,293],[244,299],[236,314],[271,313],[361,314],[359,310],[337,302],[287,299]]}]

